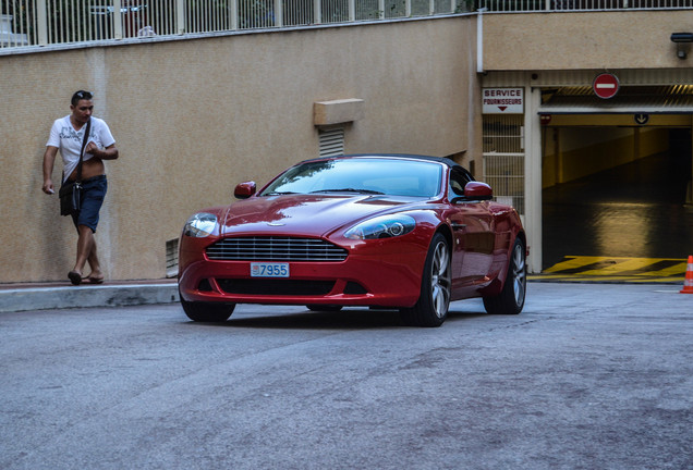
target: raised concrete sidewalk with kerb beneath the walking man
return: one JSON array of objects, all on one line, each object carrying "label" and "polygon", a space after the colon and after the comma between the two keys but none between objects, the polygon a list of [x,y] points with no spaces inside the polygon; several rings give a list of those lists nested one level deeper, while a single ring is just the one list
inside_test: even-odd
[{"label": "raised concrete sidewalk with kerb beneath the walking man", "polygon": [[78,286],[69,282],[0,285],[0,312],[170,304],[178,300],[174,279],[111,281]]}]

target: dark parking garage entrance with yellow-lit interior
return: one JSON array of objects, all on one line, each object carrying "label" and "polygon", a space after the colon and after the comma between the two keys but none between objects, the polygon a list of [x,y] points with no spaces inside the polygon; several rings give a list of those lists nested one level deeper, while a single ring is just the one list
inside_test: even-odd
[{"label": "dark parking garage entrance with yellow-lit interior", "polygon": [[693,255],[691,96],[643,88],[624,89],[608,106],[584,87],[543,97],[543,272],[685,272]]}]

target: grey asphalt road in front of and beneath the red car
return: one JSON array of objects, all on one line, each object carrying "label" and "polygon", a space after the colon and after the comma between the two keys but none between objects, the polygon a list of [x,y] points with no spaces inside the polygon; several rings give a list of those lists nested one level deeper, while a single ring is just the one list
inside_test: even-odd
[{"label": "grey asphalt road in front of and beneath the red car", "polygon": [[691,469],[693,295],[531,283],[525,311],[0,314],[0,469]]}]

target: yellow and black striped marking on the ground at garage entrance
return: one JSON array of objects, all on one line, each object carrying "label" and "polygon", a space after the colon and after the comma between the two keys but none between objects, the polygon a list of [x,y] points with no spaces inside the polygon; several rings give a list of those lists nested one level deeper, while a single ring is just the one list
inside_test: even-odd
[{"label": "yellow and black striped marking on the ground at garage entrance", "polygon": [[533,281],[571,282],[683,282],[686,259],[566,256],[563,260],[530,275]]}]

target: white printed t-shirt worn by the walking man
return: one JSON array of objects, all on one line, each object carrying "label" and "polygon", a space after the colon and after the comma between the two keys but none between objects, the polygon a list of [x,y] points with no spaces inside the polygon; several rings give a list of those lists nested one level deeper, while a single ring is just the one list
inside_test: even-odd
[{"label": "white printed t-shirt worn by the walking man", "polygon": [[[80,151],[82,150],[85,132],[86,124],[82,126],[80,132],[72,127],[70,114],[56,120],[53,126],[50,128],[50,137],[48,137],[46,147],[58,147],[60,149],[62,163],[64,165],[63,182],[70,176],[74,169],[77,168],[77,163],[80,163]],[[87,144],[89,141],[96,144],[101,150],[115,144],[115,139],[111,135],[108,124],[106,124],[104,120],[94,116],[92,116],[92,129],[89,131]],[[89,160],[92,157],[92,153],[84,153],[84,160]]]}]

